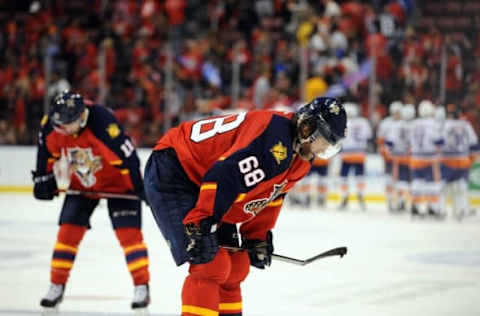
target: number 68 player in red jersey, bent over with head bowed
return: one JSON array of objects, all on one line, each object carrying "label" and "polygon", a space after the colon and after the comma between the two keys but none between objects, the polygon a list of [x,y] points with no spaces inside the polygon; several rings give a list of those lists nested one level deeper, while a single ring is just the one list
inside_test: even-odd
[{"label": "number 68 player in red jersey, bent over with head bowed", "polygon": [[[345,126],[341,102],[317,98],[296,113],[185,122],[158,141],[145,191],[175,263],[190,263],[182,315],[242,314],[240,284],[250,265],[270,265],[271,229],[285,194],[315,156],[339,152]],[[222,247],[239,247],[240,239],[248,251]]]}]

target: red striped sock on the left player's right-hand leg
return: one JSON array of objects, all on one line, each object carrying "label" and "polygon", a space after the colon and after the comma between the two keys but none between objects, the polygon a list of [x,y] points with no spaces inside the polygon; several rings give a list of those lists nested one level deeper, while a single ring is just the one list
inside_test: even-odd
[{"label": "red striped sock on the left player's right-hand leg", "polygon": [[147,284],[150,281],[149,261],[142,232],[138,228],[124,227],[115,229],[115,234],[125,253],[133,283],[135,285]]}]

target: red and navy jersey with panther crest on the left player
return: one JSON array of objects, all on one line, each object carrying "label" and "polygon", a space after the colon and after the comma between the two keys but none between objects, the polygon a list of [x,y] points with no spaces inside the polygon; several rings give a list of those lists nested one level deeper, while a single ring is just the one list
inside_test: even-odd
[{"label": "red and navy jersey with panther crest on the left player", "polygon": [[87,108],[87,124],[78,134],[62,134],[48,117],[42,120],[37,172],[52,172],[63,153],[71,170],[70,189],[126,193],[141,188],[140,161],[130,138],[107,108]]}]

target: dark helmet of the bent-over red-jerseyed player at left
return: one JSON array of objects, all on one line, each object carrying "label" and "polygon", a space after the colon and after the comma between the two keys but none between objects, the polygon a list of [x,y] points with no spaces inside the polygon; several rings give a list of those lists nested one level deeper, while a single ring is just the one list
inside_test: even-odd
[{"label": "dark helmet of the bent-over red-jerseyed player at left", "polygon": [[53,99],[49,116],[53,124],[65,125],[78,120],[84,110],[83,97],[78,93],[65,90]]}]

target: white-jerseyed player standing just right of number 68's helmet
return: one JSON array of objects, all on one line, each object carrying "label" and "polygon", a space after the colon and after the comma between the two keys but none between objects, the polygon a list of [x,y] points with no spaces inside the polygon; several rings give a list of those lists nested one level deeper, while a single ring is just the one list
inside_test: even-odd
[{"label": "white-jerseyed player standing just right of number 68's helmet", "polygon": [[368,141],[372,138],[372,128],[370,123],[364,117],[360,116],[360,111],[356,103],[345,103],[347,113],[347,135],[343,141],[341,159],[342,167],[340,170],[340,190],[342,201],[339,209],[343,210],[348,206],[349,198],[349,174],[353,171],[356,187],[357,200],[360,207],[365,210],[364,190],[365,190],[365,157],[367,153]]}]

